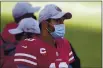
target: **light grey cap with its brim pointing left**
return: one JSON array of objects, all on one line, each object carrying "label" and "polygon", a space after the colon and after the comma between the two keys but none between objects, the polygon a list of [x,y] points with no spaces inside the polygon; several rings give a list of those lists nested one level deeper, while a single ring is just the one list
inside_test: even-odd
[{"label": "light grey cap with its brim pointing left", "polygon": [[38,21],[36,21],[33,18],[25,18],[19,22],[19,25],[17,28],[9,29],[9,33],[11,34],[19,34],[22,32],[40,34],[40,28],[39,28]]}]

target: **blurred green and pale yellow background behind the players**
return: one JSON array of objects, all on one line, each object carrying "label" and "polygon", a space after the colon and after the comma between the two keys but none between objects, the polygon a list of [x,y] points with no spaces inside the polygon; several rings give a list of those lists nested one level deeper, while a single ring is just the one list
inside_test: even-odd
[{"label": "blurred green and pale yellow background behind the players", "polygon": [[[82,68],[102,67],[101,2],[30,2],[43,7],[56,4],[64,12],[71,12],[66,20],[67,38],[81,60]],[[16,2],[1,2],[1,32],[7,23],[14,21],[12,8]],[[38,13],[36,13],[38,17]]]}]

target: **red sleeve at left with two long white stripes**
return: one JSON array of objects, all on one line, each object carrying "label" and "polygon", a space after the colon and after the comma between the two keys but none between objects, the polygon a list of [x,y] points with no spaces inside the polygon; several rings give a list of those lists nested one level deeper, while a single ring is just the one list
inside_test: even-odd
[{"label": "red sleeve at left with two long white stripes", "polygon": [[33,43],[22,41],[17,45],[14,57],[14,62],[17,65],[23,64],[30,68],[37,68],[37,56],[33,48]]}]

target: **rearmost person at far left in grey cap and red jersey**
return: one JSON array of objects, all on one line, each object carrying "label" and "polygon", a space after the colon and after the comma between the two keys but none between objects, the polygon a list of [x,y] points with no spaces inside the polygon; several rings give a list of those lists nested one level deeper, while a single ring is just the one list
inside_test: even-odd
[{"label": "rearmost person at far left in grey cap and red jersey", "polygon": [[[37,12],[40,9],[40,7],[32,7],[31,4],[28,2],[18,2],[15,7],[12,10],[14,22],[10,22],[5,26],[3,29],[3,32],[1,34],[2,38],[5,40],[0,46],[0,49],[2,50],[1,53],[2,60],[1,62],[2,68],[15,68],[13,67],[13,55],[15,53],[15,48],[18,43],[18,41],[21,40],[22,34],[12,35],[8,32],[9,29],[16,28],[18,26],[18,23],[24,19],[24,18],[33,18],[36,20],[36,16],[34,15],[35,12]],[[30,23],[30,22],[28,22]],[[14,65],[15,66],[15,65]]]}]

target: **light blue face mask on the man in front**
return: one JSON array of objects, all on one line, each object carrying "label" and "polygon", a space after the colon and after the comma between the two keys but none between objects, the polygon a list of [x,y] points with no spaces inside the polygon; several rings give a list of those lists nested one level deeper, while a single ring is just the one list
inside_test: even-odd
[{"label": "light blue face mask on the man in front", "polygon": [[54,38],[64,37],[64,34],[65,34],[65,25],[64,24],[54,25],[54,28],[55,28],[55,31],[51,32],[51,35]]}]

